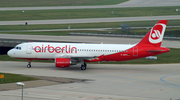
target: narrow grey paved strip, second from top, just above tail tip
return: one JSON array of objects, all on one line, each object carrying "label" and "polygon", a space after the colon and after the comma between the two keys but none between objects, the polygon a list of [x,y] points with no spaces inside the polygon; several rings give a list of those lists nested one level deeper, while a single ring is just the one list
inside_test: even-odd
[{"label": "narrow grey paved strip, second from top, just above tail tip", "polygon": [[150,20],[176,20],[176,19],[180,19],[180,15],[145,16],[145,17],[114,17],[114,18],[0,21],[0,25],[25,25],[25,22],[27,22],[28,25],[38,25],[38,24],[75,24],[75,23],[150,21]]}]

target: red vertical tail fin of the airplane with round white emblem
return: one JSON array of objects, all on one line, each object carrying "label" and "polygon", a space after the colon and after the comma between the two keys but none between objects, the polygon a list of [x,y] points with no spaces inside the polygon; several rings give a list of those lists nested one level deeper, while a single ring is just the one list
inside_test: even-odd
[{"label": "red vertical tail fin of the airplane with round white emblem", "polygon": [[138,43],[143,45],[154,45],[155,47],[160,47],[164,32],[166,29],[167,20],[159,20],[154,27],[146,34],[146,36]]}]

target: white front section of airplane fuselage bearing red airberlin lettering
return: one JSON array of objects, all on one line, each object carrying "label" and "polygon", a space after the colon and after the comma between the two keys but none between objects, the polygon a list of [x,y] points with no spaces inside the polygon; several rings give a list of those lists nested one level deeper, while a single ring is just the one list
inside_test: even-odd
[{"label": "white front section of airplane fuselage bearing red airberlin lettering", "polygon": [[[124,44],[84,44],[84,43],[50,43],[50,42],[29,42],[17,45],[8,52],[8,55],[15,58],[39,58],[55,59],[64,56],[100,56],[110,55],[118,52],[126,52],[134,45]],[[20,48],[20,49],[19,49]]]}]

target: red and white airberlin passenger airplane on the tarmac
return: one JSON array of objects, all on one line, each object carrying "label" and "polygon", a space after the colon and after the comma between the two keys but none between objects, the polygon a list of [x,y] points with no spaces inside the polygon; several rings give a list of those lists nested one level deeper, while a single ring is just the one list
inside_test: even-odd
[{"label": "red and white airberlin passenger airplane on the tarmac", "polygon": [[145,37],[136,44],[84,44],[84,43],[21,43],[8,51],[8,55],[17,59],[54,60],[58,68],[81,64],[86,70],[86,62],[126,61],[169,52],[169,48],[161,47],[167,20],[159,20]]}]

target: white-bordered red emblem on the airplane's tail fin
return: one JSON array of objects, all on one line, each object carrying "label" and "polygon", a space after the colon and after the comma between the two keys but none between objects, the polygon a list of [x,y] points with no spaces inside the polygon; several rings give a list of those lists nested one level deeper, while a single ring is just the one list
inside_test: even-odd
[{"label": "white-bordered red emblem on the airplane's tail fin", "polygon": [[149,42],[151,43],[161,42],[163,39],[165,28],[166,28],[165,24],[156,24],[150,31]]}]

